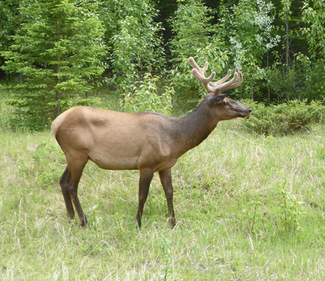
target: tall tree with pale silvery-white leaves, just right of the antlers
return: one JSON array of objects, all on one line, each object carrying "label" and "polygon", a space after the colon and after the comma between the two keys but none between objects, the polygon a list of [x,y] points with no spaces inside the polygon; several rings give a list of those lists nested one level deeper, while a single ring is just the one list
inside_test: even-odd
[{"label": "tall tree with pale silvery-white leaves, just right of the antlers", "polygon": [[[269,53],[279,43],[274,35],[274,6],[268,0],[241,0],[233,7],[234,14],[224,24],[232,25],[229,31],[234,65],[245,74],[243,91],[254,99],[257,83],[266,79],[262,68],[262,55]],[[255,94],[254,94],[255,93]]]}]

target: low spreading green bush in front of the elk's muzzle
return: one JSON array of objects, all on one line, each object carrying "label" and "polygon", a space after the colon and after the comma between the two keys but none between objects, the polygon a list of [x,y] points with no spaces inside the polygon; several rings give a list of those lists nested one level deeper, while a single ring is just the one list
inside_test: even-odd
[{"label": "low spreading green bush in front of the elk's muzzle", "polygon": [[263,135],[281,135],[309,130],[312,124],[324,122],[325,107],[318,101],[291,100],[280,105],[265,106],[251,100],[244,102],[252,108],[253,115],[245,119],[243,126]]}]

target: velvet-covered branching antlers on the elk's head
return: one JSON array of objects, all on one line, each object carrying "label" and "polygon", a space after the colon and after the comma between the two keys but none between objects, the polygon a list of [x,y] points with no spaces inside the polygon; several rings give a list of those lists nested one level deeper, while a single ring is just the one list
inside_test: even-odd
[{"label": "velvet-covered branching antlers on the elk's head", "polygon": [[205,70],[207,70],[209,66],[208,62],[205,63],[203,68],[200,68],[196,61],[191,57],[189,58],[189,64],[193,67],[192,74],[194,77],[203,84],[208,92],[215,93],[216,95],[221,91],[234,89],[243,83],[243,74],[238,70],[238,67],[236,67],[234,77],[228,82],[225,81],[230,77],[231,70],[228,70],[228,74],[224,78],[212,83],[212,80],[215,78],[215,72],[212,72],[210,77],[205,77],[204,75]]}]

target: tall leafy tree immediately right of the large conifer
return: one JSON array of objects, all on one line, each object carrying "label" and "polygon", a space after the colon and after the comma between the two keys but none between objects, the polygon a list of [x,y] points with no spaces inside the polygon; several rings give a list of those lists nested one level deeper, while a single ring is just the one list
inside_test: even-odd
[{"label": "tall leafy tree immediately right of the large conifer", "polygon": [[[160,23],[151,1],[108,1],[112,45],[110,62],[121,93],[132,89],[137,76],[144,71],[161,70],[165,63]],[[114,27],[113,25],[113,27]]]}]

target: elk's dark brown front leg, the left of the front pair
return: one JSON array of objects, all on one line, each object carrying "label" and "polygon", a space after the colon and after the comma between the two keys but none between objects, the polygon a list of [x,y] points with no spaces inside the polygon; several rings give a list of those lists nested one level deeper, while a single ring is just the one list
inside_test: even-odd
[{"label": "elk's dark brown front leg, the left of the front pair", "polygon": [[151,180],[153,179],[152,169],[141,169],[140,170],[140,180],[139,180],[139,207],[136,213],[136,222],[139,228],[141,228],[141,217],[144,211],[144,203],[146,203],[149,187]]}]

